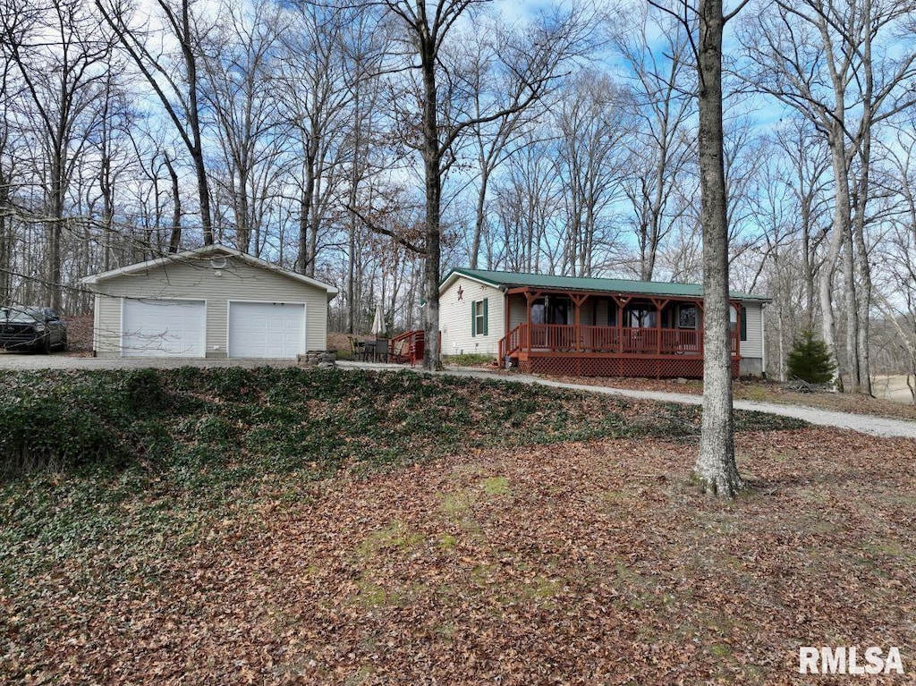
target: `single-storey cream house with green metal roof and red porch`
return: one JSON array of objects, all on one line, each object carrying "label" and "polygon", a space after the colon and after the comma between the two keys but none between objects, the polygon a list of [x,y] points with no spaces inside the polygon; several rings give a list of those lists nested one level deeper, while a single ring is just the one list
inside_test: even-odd
[{"label": "single-storey cream house with green metal roof and red porch", "polygon": [[[766,369],[768,298],[733,291],[733,374]],[[703,286],[453,269],[439,287],[442,354],[529,373],[703,377]]]}]

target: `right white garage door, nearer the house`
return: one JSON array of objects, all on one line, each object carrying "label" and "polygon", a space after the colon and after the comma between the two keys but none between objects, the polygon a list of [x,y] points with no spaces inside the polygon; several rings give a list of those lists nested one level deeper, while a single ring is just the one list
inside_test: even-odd
[{"label": "right white garage door, nearer the house", "polygon": [[229,303],[230,357],[281,359],[305,352],[305,305]]}]

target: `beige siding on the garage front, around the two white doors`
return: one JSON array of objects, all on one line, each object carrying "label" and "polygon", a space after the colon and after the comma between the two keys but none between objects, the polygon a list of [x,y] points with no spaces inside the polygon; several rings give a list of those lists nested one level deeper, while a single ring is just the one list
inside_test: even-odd
[{"label": "beige siding on the garage front, around the two white doors", "polygon": [[130,276],[105,279],[95,286],[98,356],[120,356],[122,297],[206,300],[206,356],[214,358],[227,355],[228,300],[304,302],[306,350],[327,348],[328,297],[324,289],[246,264],[233,256],[220,256],[218,259],[220,262],[217,264],[225,260],[225,267],[215,269],[208,256],[152,267],[147,272]]}]

